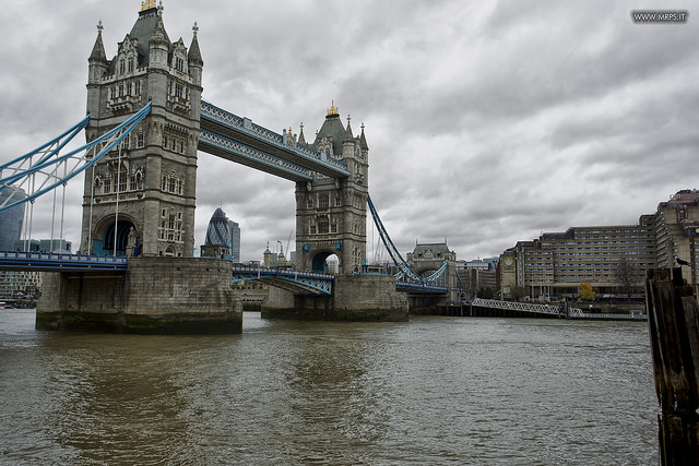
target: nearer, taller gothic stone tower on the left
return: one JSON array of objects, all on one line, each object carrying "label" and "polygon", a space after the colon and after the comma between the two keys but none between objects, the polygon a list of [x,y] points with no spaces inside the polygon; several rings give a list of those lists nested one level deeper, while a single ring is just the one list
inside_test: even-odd
[{"label": "nearer, taller gothic stone tower on the left", "polygon": [[90,56],[87,141],[152,103],[118,148],[85,172],[82,253],[192,256],[203,61],[197,24],[189,50],[171,43],[163,3],[139,17],[108,60],[102,22]]}]

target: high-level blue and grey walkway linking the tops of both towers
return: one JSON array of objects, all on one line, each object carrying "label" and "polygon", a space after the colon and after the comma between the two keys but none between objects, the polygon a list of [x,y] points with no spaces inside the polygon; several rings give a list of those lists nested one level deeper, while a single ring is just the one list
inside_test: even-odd
[{"label": "high-level blue and grey walkway linking the tops of both towers", "polygon": [[311,181],[313,171],[330,178],[350,176],[347,164],[297,144],[208,101],[201,103],[199,150],[292,181]]}]

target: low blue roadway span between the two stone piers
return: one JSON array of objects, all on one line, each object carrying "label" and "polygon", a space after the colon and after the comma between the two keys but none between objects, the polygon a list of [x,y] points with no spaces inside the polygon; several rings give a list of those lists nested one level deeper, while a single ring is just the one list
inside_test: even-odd
[{"label": "low blue roadway span between the two stone piers", "polygon": [[297,295],[332,295],[335,277],[325,274],[265,267],[233,267],[233,283],[259,279]]}]

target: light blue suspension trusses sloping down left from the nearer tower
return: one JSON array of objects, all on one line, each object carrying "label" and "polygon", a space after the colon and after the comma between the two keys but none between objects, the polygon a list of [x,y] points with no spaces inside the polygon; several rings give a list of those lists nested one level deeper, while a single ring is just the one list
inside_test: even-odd
[{"label": "light blue suspension trusses sloping down left from the nearer tower", "polygon": [[[66,131],[60,136],[40,147],[0,166],[0,191],[4,189],[24,189],[26,198],[7,196],[0,205],[0,212],[25,202],[34,202],[47,192],[95,165],[112,151],[151,111],[149,101],[141,110],[112,130],[94,141],[60,155],[60,151],[90,122],[90,116]],[[9,175],[4,175],[9,172]],[[26,188],[26,189],[25,189]]]}]

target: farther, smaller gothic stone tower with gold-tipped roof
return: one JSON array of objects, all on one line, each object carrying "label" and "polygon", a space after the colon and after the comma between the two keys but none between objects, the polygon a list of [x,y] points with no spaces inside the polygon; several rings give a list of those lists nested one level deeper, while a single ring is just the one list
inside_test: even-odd
[{"label": "farther, smaller gothic stone tower with gold-tipped roof", "polygon": [[[299,144],[306,144],[304,129]],[[344,128],[333,103],[310,147],[347,164],[350,177],[329,178],[316,172],[310,182],[296,183],[296,267],[324,272],[325,259],[339,258],[339,273],[360,270],[367,251],[369,146],[354,136],[350,118]]]}]

